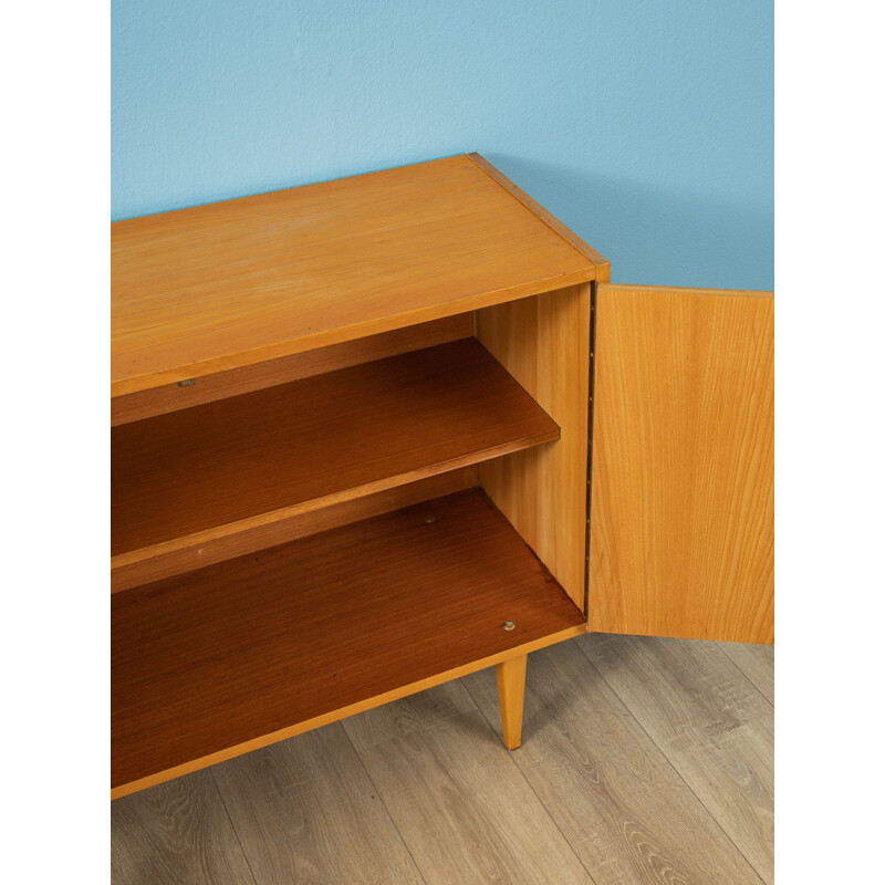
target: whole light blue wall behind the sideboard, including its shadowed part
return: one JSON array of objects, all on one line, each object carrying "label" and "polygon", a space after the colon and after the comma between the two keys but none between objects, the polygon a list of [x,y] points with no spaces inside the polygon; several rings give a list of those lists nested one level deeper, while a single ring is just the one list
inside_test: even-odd
[{"label": "whole light blue wall behind the sideboard, including its shadowed part", "polygon": [[113,0],[114,219],[479,150],[620,282],[773,287],[771,0]]}]

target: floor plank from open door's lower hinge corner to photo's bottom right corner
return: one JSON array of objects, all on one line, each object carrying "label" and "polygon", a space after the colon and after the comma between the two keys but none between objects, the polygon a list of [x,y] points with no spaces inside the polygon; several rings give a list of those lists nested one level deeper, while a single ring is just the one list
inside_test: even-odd
[{"label": "floor plank from open door's lower hinge corner to photo's bottom right corner", "polygon": [[579,641],[766,883],[774,881],[773,710],[715,643]]}]

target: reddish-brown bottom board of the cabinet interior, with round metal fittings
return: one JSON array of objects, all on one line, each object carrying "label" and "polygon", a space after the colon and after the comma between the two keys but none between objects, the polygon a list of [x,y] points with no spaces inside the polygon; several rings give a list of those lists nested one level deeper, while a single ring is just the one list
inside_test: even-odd
[{"label": "reddish-brown bottom board of the cabinet interior, with round metal fittings", "polygon": [[112,796],[583,628],[479,489],[117,593]]}]

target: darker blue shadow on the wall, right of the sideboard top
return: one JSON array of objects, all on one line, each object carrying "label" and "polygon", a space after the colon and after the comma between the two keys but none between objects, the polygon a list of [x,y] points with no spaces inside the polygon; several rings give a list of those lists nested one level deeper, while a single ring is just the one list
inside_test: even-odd
[{"label": "darker blue shadow on the wall, right of the sideboard top", "polygon": [[596,176],[508,154],[483,156],[602,252],[612,262],[612,282],[773,285],[771,206],[738,197],[711,199],[656,181]]}]

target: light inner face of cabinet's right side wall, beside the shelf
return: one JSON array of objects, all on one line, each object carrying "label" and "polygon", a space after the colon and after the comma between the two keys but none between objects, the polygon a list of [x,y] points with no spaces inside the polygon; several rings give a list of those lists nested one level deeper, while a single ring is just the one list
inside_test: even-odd
[{"label": "light inner face of cabinet's right side wall, beside the shelf", "polygon": [[483,464],[480,483],[584,608],[590,284],[477,311],[477,337],[559,424],[559,441]]}]

